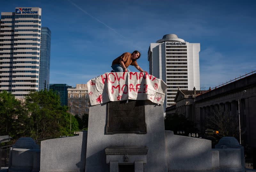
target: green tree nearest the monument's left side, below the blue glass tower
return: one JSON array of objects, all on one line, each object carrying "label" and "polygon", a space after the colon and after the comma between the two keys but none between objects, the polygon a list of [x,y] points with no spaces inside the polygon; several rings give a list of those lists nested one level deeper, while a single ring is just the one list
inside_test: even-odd
[{"label": "green tree nearest the monument's left side, below the blue glass tower", "polygon": [[[31,92],[25,100],[25,105],[31,119],[30,136],[35,140],[73,133],[70,132],[68,107],[61,106],[60,98],[55,92],[52,90]],[[73,129],[77,129],[78,123],[76,118],[72,118],[71,121]]]}]

